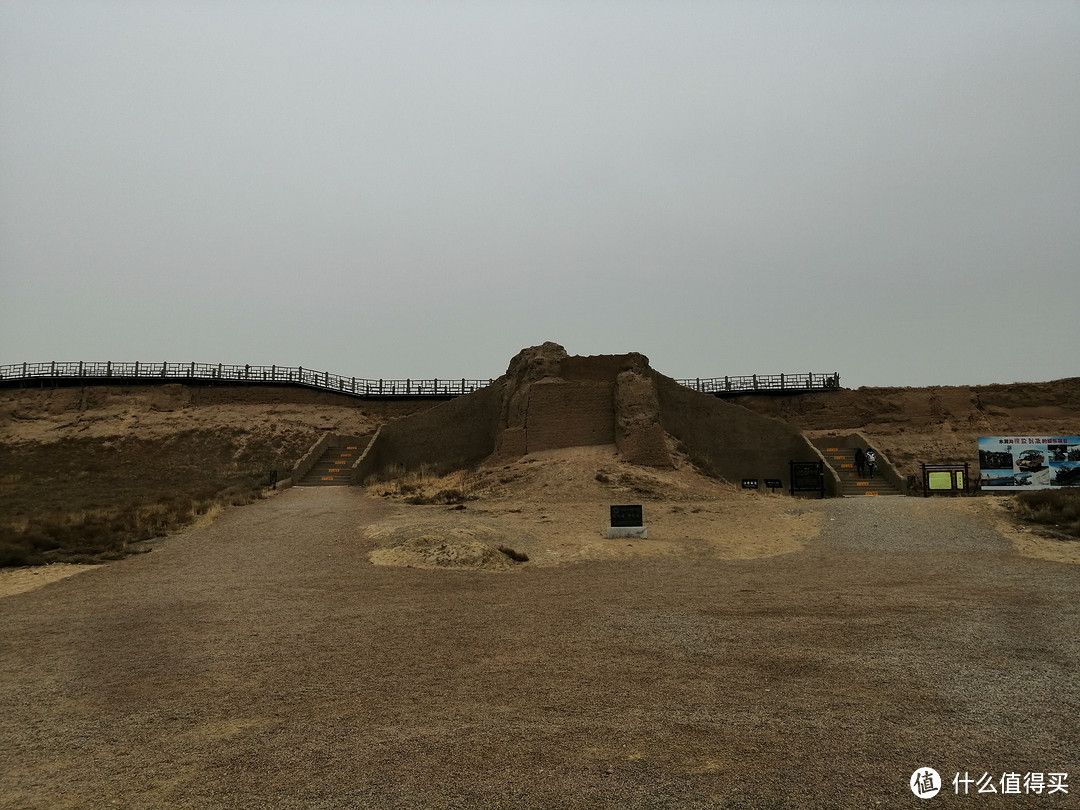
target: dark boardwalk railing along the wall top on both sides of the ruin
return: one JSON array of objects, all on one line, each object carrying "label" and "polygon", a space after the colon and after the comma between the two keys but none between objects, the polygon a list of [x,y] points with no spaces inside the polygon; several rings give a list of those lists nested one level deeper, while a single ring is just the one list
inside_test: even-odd
[{"label": "dark boardwalk railing along the wall top on both sides of the ruin", "polygon": [[[189,382],[203,384],[284,384],[364,399],[461,396],[490,386],[487,379],[369,380],[316,372],[302,366],[251,366],[221,363],[13,363],[0,365],[0,387],[50,387],[93,384],[153,384]],[[727,396],[751,393],[798,393],[835,391],[839,374],[774,374],[745,377],[708,377],[676,380],[706,394]]]}]

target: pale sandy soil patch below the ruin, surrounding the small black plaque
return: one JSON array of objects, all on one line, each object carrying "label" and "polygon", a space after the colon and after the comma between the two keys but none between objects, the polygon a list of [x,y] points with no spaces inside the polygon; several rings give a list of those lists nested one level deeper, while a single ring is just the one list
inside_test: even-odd
[{"label": "pale sandy soil patch below the ruin, surrounding the small black plaque", "polygon": [[[808,501],[744,492],[684,462],[634,467],[609,446],[525,456],[482,471],[475,487],[475,500],[406,507],[369,526],[365,536],[378,545],[372,562],[513,571],[642,556],[748,559],[798,551],[821,530],[821,512]],[[620,503],[642,504],[648,539],[605,536],[609,507]]]}]

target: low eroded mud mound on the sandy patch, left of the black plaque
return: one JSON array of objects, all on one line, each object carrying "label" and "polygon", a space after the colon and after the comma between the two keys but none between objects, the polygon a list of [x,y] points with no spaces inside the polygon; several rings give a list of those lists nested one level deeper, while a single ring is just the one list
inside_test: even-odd
[{"label": "low eroded mud mound on the sandy patch, left of the black plaque", "polygon": [[483,525],[378,526],[365,535],[377,543],[368,555],[375,565],[505,571],[528,559],[510,546],[505,535]]}]

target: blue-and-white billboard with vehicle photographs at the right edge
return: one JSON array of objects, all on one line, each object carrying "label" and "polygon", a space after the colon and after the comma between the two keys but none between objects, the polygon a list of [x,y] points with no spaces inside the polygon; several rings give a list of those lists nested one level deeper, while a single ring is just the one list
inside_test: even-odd
[{"label": "blue-and-white billboard with vehicle photographs at the right edge", "polygon": [[1080,436],[980,436],[978,469],[983,489],[1080,487]]}]

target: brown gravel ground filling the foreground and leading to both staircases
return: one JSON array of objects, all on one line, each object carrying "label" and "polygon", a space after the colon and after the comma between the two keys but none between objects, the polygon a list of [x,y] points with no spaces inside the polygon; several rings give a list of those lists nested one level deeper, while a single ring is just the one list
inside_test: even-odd
[{"label": "brown gravel ground filling the foreground and leading to both staircases", "polygon": [[1080,569],[970,500],[806,503],[792,554],[515,573],[370,565],[354,489],[232,510],[0,599],[0,807],[1080,807]]}]

